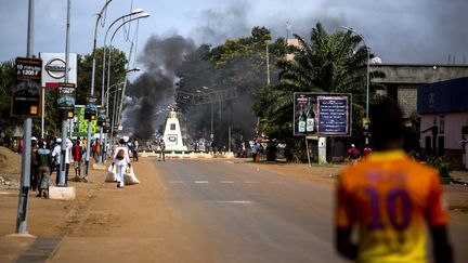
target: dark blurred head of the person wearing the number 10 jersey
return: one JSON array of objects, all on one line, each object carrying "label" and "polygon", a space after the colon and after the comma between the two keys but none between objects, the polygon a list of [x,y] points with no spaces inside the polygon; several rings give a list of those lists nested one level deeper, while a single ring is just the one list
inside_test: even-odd
[{"label": "dark blurred head of the person wearing the number 10 jersey", "polygon": [[370,134],[375,140],[394,140],[403,136],[403,114],[396,102],[382,98],[369,108]]}]

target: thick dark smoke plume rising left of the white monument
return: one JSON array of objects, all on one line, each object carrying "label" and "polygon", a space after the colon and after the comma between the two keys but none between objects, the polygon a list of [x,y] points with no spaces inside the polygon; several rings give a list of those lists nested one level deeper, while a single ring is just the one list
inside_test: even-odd
[{"label": "thick dark smoke plume rising left of the white monument", "polygon": [[147,140],[154,134],[156,114],[161,103],[173,101],[174,70],[194,49],[193,40],[179,35],[150,38],[139,57],[145,73],[129,87],[127,93],[130,96],[127,105],[130,107],[126,113],[126,126],[133,127],[134,136]]}]

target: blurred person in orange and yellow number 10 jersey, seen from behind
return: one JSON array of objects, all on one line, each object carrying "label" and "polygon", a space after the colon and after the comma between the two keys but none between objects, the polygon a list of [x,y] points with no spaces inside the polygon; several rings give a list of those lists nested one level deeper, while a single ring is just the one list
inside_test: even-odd
[{"label": "blurred person in orange and yellow number 10 jersey, seen from behind", "polygon": [[402,113],[394,102],[369,111],[375,150],[338,177],[337,250],[355,262],[428,262],[428,225],[435,262],[452,262],[438,172],[403,152]]}]

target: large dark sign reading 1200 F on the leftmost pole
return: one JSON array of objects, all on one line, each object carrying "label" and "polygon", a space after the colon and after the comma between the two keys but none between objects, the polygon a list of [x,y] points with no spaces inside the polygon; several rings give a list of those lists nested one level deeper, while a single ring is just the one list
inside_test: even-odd
[{"label": "large dark sign reading 1200 F on the leftmost pole", "polygon": [[16,78],[11,101],[12,115],[40,116],[41,67],[42,61],[40,58],[16,58]]}]

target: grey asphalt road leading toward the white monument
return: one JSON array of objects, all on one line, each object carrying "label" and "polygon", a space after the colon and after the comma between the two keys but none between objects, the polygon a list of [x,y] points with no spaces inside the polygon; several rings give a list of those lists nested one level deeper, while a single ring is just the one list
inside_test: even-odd
[{"label": "grey asphalt road leading toward the white monument", "polygon": [[177,218],[222,262],[344,262],[333,249],[333,192],[226,160],[157,162]]}]

